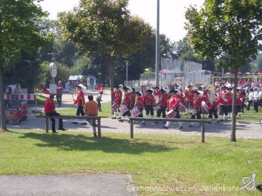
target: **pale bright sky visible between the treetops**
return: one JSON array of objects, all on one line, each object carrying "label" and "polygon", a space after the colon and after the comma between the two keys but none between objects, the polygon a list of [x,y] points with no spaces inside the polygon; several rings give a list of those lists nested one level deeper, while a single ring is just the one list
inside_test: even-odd
[{"label": "pale bright sky visible between the treetops", "polygon": [[[78,5],[79,0],[44,0],[40,3],[44,11],[50,13],[50,19],[57,19],[57,13],[70,11]],[[184,13],[190,4],[202,6],[204,0],[160,0],[159,31],[171,41],[178,41],[186,35],[184,30]],[[131,15],[137,15],[156,28],[157,0],[129,0]]]}]

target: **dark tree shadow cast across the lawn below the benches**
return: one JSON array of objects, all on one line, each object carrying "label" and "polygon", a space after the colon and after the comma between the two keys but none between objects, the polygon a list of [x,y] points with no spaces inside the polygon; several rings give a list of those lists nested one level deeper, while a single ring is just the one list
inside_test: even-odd
[{"label": "dark tree shadow cast across the lawn below the benches", "polygon": [[38,134],[24,133],[20,138],[31,138],[40,140],[42,143],[35,143],[38,147],[56,147],[59,150],[101,150],[108,153],[127,153],[141,154],[143,152],[162,152],[177,149],[176,147],[167,147],[156,144],[152,141],[138,141],[130,139],[117,138],[93,138],[84,134]]}]

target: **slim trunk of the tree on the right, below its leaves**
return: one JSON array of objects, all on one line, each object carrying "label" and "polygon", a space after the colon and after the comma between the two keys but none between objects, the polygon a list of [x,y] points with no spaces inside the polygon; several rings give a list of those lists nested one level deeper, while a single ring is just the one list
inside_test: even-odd
[{"label": "slim trunk of the tree on the right, below its leaves", "polygon": [[232,124],[231,124],[231,136],[230,136],[230,141],[231,142],[236,142],[235,138],[235,129],[236,129],[236,88],[237,88],[237,72],[238,72],[238,67],[235,68],[234,70],[234,88],[233,88],[233,103],[232,103]]}]

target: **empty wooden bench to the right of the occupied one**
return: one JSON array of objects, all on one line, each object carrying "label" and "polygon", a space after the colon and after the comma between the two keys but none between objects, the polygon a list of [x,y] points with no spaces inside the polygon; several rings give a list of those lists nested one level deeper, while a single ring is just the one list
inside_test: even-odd
[{"label": "empty wooden bench to the right of the occupied one", "polygon": [[211,124],[212,120],[204,119],[166,119],[166,118],[139,118],[139,117],[130,117],[130,138],[134,138],[134,121],[160,121],[160,122],[187,122],[187,123],[202,123],[201,124],[201,142],[204,143],[204,124]]}]

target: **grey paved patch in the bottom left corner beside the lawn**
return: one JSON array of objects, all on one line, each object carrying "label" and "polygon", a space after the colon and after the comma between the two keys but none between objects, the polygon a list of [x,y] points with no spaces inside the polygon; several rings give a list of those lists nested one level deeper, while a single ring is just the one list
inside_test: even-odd
[{"label": "grey paved patch in the bottom left corner beside the lawn", "polygon": [[0,175],[0,196],[136,196],[131,175]]}]

